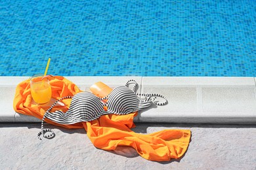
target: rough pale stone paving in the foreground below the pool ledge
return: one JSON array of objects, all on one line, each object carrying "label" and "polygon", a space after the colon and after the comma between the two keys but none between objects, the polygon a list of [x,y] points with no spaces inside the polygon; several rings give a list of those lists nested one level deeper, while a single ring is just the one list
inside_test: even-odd
[{"label": "rough pale stone paving in the foreground below the pool ledge", "polygon": [[190,129],[181,160],[148,161],[133,148],[95,148],[84,129],[53,128],[56,137],[37,139],[39,123],[0,124],[1,169],[256,169],[256,125],[137,124],[137,133]]}]

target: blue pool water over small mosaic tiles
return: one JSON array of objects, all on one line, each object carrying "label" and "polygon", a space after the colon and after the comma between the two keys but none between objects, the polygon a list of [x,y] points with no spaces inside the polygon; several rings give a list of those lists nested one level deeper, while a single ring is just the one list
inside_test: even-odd
[{"label": "blue pool water over small mosaic tiles", "polygon": [[256,1],[1,0],[0,76],[256,76]]}]

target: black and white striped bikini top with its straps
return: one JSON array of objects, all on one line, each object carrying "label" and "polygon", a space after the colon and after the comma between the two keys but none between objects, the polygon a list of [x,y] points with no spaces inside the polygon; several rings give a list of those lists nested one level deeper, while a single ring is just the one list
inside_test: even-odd
[{"label": "black and white striped bikini top with its straps", "polygon": [[[129,84],[131,83],[134,84],[132,89],[129,88]],[[46,138],[54,136],[51,129],[43,129],[45,118],[58,124],[75,124],[78,122],[90,122],[96,120],[104,114],[129,114],[145,109],[152,103],[155,105],[165,105],[167,103],[167,99],[163,95],[157,93],[136,94],[135,89],[137,85],[135,80],[129,80],[125,86],[114,88],[109,95],[103,98],[96,97],[96,95],[91,92],[80,92],[75,94],[74,97],[66,96],[58,99],[58,101],[60,101],[62,99],[72,98],[70,108],[66,113],[61,110],[50,112],[54,105],[58,103],[58,101],[56,101],[45,112],[41,122],[41,131],[38,133],[37,137],[41,139],[42,134],[43,137]],[[143,99],[140,99],[138,95],[142,96]],[[164,101],[159,103],[158,101],[155,101],[156,97],[161,97]],[[104,103],[103,100],[106,99],[107,102]],[[104,110],[104,106],[107,107],[107,110]],[[51,132],[50,135],[46,135],[47,132]]]}]

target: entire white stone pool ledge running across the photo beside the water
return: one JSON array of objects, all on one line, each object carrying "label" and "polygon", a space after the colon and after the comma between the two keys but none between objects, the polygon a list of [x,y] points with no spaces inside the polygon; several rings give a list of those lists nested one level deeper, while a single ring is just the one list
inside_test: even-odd
[{"label": "entire white stone pool ledge running across the photo beside the water", "polygon": [[[40,122],[14,112],[15,88],[26,76],[0,77],[0,122]],[[101,81],[115,88],[138,82],[138,93],[160,93],[165,106],[139,112],[135,122],[256,124],[256,80],[253,77],[66,76],[83,91]]]}]

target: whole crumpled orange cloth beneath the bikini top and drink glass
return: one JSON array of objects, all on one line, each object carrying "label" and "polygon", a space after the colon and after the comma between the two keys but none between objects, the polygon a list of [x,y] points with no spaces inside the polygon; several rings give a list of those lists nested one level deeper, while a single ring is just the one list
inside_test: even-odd
[{"label": "whole crumpled orange cloth beneath the bikini top and drink glass", "polygon": [[[54,99],[81,92],[74,83],[62,76],[55,76],[50,84]],[[66,106],[70,105],[70,99],[64,99],[62,102]],[[43,118],[45,110],[49,109],[32,103],[30,80],[25,80],[16,87],[13,106],[16,112],[39,119]],[[66,112],[68,107],[54,107],[54,110],[60,109]],[[47,119],[45,122],[66,128],[84,127],[91,142],[96,148],[103,150],[115,150],[117,146],[131,146],[142,158],[152,161],[169,161],[184,155],[190,142],[190,130],[166,129],[151,134],[135,133],[131,128],[135,127],[133,118],[136,115],[137,112],[127,115],[109,114],[91,122],[74,125],[56,124]]]}]

